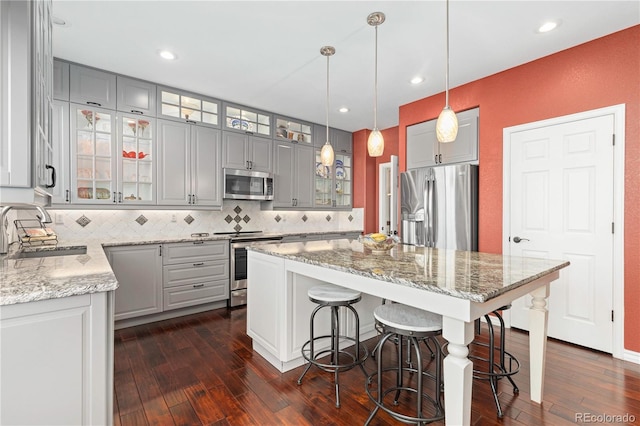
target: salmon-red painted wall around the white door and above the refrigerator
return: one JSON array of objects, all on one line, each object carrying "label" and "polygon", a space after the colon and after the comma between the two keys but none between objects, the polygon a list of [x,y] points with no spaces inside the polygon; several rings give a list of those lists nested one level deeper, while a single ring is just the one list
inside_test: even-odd
[{"label": "salmon-red painted wall around the white door and above the refrigerator", "polygon": [[[625,349],[640,352],[640,25],[450,90],[455,111],[480,107],[479,248],[502,252],[502,130],[626,104]],[[472,64],[470,64],[472,66]],[[451,70],[455,74],[455,69]],[[437,118],[444,94],[400,107],[400,170],[407,126]]]}]

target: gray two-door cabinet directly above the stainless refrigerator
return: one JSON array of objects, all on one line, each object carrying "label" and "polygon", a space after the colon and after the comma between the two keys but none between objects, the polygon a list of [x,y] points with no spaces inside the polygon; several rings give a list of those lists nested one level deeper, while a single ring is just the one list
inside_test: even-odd
[{"label": "gray two-door cabinet directly above the stainless refrigerator", "polygon": [[453,163],[478,163],[479,108],[457,114],[458,136],[454,142],[440,143],[437,120],[407,127],[407,170]]}]

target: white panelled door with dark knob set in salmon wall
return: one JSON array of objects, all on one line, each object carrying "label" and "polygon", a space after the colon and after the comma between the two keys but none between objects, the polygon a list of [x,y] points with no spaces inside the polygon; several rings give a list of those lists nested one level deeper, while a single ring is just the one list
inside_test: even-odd
[{"label": "white panelled door with dark knob set in salmon wall", "polygon": [[[571,262],[551,284],[549,336],[609,353],[613,134],[613,114],[514,132],[505,158],[511,212],[505,252]],[[530,300],[526,296],[513,303],[514,327],[528,328]]]}]

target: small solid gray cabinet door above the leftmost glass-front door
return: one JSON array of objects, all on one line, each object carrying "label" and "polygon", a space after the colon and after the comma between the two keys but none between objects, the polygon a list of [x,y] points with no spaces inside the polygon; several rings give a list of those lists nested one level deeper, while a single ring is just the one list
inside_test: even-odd
[{"label": "small solid gray cabinet door above the leftmost glass-front door", "polygon": [[69,68],[71,102],[116,109],[116,75],[71,64]]}]

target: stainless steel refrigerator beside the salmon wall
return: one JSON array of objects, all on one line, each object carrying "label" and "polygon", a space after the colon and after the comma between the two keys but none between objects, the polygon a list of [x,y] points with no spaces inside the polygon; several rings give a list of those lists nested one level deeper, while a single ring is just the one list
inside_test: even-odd
[{"label": "stainless steel refrigerator beside the salmon wall", "polygon": [[409,170],[400,182],[403,243],[478,250],[478,166]]}]

